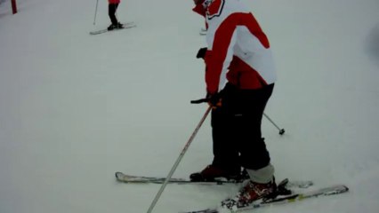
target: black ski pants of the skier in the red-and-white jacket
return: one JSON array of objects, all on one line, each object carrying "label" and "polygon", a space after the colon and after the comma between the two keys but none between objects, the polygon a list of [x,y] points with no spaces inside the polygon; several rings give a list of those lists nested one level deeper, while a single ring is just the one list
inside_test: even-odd
[{"label": "black ski pants of the skier in the red-and-white jacket", "polygon": [[239,90],[227,83],[222,106],[212,111],[215,167],[234,173],[241,167],[259,170],[270,163],[261,123],[273,88],[270,84],[258,90]]}]

